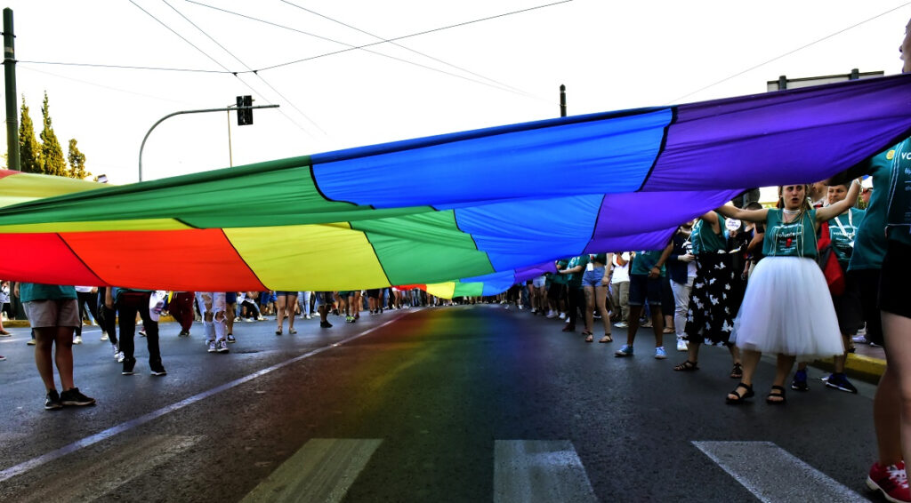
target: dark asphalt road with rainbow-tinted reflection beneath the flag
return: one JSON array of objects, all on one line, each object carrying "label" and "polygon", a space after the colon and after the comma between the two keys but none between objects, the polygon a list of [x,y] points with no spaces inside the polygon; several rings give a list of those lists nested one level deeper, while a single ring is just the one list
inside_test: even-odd
[{"label": "dark asphalt road with rainbow-tinted reflection beneath the flag", "polygon": [[[163,324],[166,377],[135,376],[87,327],[77,386],[95,407],[43,408],[27,329],[0,339],[2,501],[855,501],[872,498],[874,387],[724,404],[727,351],[681,374],[501,306],[364,315],[274,335],[238,323],[230,354]],[[597,331],[596,331],[597,333]],[[597,338],[596,338],[597,340]]]}]

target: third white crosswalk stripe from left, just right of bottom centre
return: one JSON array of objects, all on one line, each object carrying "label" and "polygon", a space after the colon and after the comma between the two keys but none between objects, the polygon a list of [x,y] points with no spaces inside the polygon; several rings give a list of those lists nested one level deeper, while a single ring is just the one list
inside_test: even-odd
[{"label": "third white crosswalk stripe from left, just right of bottom centre", "polygon": [[494,503],[597,502],[569,440],[496,440]]}]

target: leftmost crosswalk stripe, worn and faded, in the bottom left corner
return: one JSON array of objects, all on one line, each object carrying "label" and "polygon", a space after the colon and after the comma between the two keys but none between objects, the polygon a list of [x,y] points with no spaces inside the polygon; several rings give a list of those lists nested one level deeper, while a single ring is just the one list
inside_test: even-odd
[{"label": "leftmost crosswalk stripe, worn and faded, in the bottom left corner", "polygon": [[[150,435],[78,458],[65,477],[43,478],[16,494],[18,503],[94,501],[164,464],[204,437]],[[105,468],[99,468],[105,467]]]}]

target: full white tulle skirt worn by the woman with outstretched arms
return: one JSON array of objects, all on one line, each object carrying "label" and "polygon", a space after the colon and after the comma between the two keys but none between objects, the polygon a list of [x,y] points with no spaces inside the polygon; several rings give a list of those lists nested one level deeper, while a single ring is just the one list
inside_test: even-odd
[{"label": "full white tulle skirt worn by the woman with outstretched arms", "polygon": [[812,258],[765,257],[753,270],[731,340],[799,360],[844,353],[823,271]]}]

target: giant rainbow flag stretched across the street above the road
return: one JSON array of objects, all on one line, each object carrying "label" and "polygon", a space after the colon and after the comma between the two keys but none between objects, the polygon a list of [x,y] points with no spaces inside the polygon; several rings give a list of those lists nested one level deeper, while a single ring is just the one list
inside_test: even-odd
[{"label": "giant rainbow flag stretched across the street above the road", "polygon": [[128,186],[0,170],[0,277],[173,290],[502,291],[659,248],[745,187],[911,135],[911,75],[430,136]]}]

